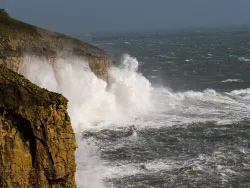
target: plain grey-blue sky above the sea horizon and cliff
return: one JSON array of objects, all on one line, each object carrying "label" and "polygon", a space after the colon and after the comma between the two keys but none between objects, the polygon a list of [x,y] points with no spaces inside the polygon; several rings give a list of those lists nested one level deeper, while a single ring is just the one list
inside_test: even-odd
[{"label": "plain grey-blue sky above the sea horizon and cliff", "polygon": [[250,24],[250,0],[0,0],[0,8],[64,33]]}]

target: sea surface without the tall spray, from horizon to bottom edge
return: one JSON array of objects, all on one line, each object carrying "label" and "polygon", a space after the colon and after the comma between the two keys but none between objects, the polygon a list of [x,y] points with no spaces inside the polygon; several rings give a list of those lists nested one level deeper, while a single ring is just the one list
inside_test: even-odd
[{"label": "sea surface without the tall spray, from horizon to bottom edge", "polygon": [[137,58],[164,109],[140,125],[83,134],[117,169],[106,187],[250,187],[249,27],[89,40],[115,62]]}]

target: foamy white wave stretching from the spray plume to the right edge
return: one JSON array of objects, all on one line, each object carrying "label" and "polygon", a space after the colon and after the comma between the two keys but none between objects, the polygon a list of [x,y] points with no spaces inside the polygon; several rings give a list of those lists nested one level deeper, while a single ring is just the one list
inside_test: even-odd
[{"label": "foamy white wave stretching from the spray plume to the right edge", "polygon": [[193,122],[216,121],[229,123],[248,117],[250,112],[250,89],[217,92],[204,91],[173,92],[169,88],[155,88],[153,126],[172,126]]}]

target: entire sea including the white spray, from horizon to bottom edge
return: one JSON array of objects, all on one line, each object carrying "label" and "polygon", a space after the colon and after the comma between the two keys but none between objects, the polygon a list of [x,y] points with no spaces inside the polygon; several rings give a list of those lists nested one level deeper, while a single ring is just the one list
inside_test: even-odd
[{"label": "entire sea including the white spray, from horizon to bottom edge", "polygon": [[69,99],[78,187],[250,187],[249,27],[87,40],[115,61],[109,85],[78,57],[19,67]]}]

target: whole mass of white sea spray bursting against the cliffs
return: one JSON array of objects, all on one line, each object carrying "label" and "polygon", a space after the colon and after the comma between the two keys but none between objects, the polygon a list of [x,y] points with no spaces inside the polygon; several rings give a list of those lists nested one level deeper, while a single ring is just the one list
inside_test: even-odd
[{"label": "whole mass of white sea spray bursting against the cliffs", "polygon": [[104,164],[95,143],[82,140],[80,132],[105,122],[122,122],[146,115],[150,103],[150,82],[138,74],[138,62],[125,55],[120,67],[109,70],[107,83],[90,71],[88,63],[77,57],[45,59],[26,56],[18,72],[33,83],[63,94],[69,100],[68,112],[76,134],[78,187],[103,188]]}]

